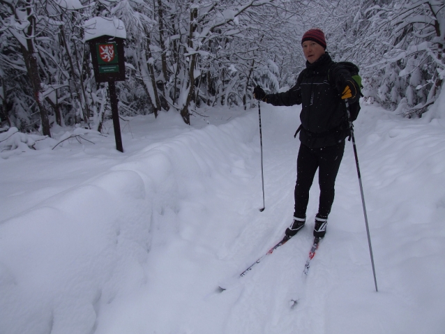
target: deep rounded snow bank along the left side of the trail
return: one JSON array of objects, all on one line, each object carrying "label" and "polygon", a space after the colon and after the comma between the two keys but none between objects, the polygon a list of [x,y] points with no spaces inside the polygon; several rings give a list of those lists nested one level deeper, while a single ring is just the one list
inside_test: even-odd
[{"label": "deep rounded snow bank along the left side of the trail", "polygon": [[[161,117],[174,123],[169,118],[179,116]],[[188,220],[206,211],[203,194],[216,201],[216,193],[230,196],[226,190],[240,175],[252,179],[245,161],[257,159],[250,148],[255,135],[254,114],[186,130],[3,220],[1,333],[93,333],[103,305],[150,284],[146,261],[156,248],[154,234],[162,235],[159,243],[206,234],[195,229],[203,222]]]}]

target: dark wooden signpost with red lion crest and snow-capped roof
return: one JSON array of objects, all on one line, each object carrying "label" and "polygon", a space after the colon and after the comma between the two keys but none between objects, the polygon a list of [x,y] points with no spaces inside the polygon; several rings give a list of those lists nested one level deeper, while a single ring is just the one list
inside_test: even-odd
[{"label": "dark wooden signpost with red lion crest and snow-capped roof", "polygon": [[[90,28],[88,28],[90,26]],[[123,152],[121,126],[119,123],[116,81],[125,80],[123,43],[126,38],[123,23],[118,19],[93,17],[86,22],[85,41],[89,43],[96,82],[108,82],[114,126],[116,149]]]}]

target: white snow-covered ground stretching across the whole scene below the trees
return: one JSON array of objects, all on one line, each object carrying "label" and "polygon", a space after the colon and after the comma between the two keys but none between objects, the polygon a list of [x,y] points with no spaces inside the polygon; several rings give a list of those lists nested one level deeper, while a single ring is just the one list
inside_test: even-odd
[{"label": "white snow-covered ground stretching across the whole scene below the trees", "polygon": [[124,153],[110,123],[96,144],[1,153],[0,333],[444,333],[440,117],[355,122],[379,292],[350,143],[308,276],[317,183],[307,226],[236,278],[292,220],[299,110],[262,104],[263,212],[257,109],[138,116]]}]

